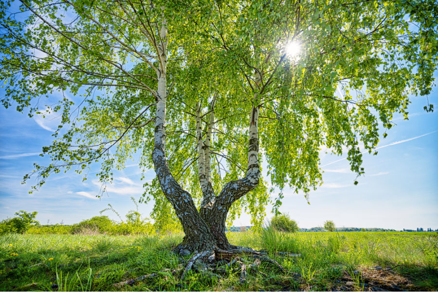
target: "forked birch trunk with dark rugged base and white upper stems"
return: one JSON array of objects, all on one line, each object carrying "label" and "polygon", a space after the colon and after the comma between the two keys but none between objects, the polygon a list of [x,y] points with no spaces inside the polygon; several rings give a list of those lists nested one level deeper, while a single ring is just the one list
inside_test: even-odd
[{"label": "forked birch trunk with dark rugged base and white upper stems", "polygon": [[[152,160],[160,186],[164,196],[172,204],[175,213],[180,220],[185,237],[177,246],[176,252],[191,254],[205,250],[230,249],[232,246],[225,237],[225,221],[231,205],[240,197],[256,187],[260,177],[258,162],[258,107],[253,107],[250,114],[248,168],[246,176],[240,180],[227,183],[218,196],[215,196],[210,181],[210,136],[214,111],[210,115],[210,124],[207,130],[206,141],[201,138],[200,125],[198,141],[200,152],[199,178],[203,201],[201,210],[198,212],[191,195],[185,191],[175,180],[166,163],[165,157],[165,123],[166,123],[166,21],[163,20],[161,39],[155,43],[160,58],[160,66],[157,68],[158,91],[156,92],[156,117],[154,150]],[[256,96],[255,96],[256,97]],[[213,109],[214,100],[211,108]],[[199,109],[197,114],[199,115]]]}]

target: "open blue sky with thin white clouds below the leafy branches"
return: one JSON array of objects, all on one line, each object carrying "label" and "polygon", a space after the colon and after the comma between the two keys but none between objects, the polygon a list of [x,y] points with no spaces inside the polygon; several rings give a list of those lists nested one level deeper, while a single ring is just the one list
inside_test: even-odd
[{"label": "open blue sky with thin white clouds below the leafy branches", "polygon": [[[436,89],[429,100],[437,103]],[[438,228],[438,114],[423,110],[424,97],[411,101],[409,120],[396,118],[397,126],[381,139],[378,155],[364,154],[365,176],[358,185],[353,184],[355,175],[344,157],[321,151],[324,184],[310,193],[310,205],[303,194],[286,189],[280,211],[307,228],[322,226],[327,219],[339,227]],[[14,107],[0,109],[0,218],[27,210],[38,211],[37,219],[44,224],[48,220],[72,224],[99,215],[108,203],[120,214],[134,209],[129,197],[138,199],[142,193],[135,161],[114,172],[109,195],[101,200],[95,198],[101,186],[94,179],[95,169],[85,182],[74,172],[53,175],[39,191],[28,194],[32,182],[23,185],[22,177],[32,171],[34,162],[44,161],[38,154],[50,144],[56,123],[53,114],[29,118]],[[153,176],[152,170],[146,173],[146,179]],[[151,203],[142,204],[139,210],[147,217],[151,208]],[[250,225],[250,217],[242,214],[234,225]]]}]

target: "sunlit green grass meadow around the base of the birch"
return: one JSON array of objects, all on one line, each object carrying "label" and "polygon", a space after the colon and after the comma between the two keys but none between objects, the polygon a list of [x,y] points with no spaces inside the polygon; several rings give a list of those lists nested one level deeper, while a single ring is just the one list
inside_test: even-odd
[{"label": "sunlit green grass meadow around the base of the birch", "polygon": [[[222,279],[190,271],[181,282],[178,274],[159,271],[179,267],[178,256],[170,250],[183,235],[12,234],[0,237],[0,290],[366,291],[369,285],[386,290],[438,290],[437,233],[284,234],[267,229],[261,234],[237,232],[228,236],[232,244],[267,250],[288,272],[263,263],[259,271],[265,275],[249,273],[246,283],[239,283],[240,273],[232,268]],[[278,252],[300,256],[276,256]],[[382,270],[373,270],[376,266]],[[385,271],[387,268],[391,269]],[[113,286],[152,273],[158,275],[133,286]],[[292,277],[293,273],[301,278]],[[346,285],[348,281],[353,285]]]}]

